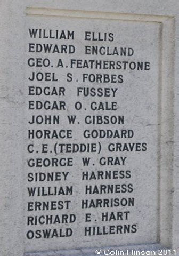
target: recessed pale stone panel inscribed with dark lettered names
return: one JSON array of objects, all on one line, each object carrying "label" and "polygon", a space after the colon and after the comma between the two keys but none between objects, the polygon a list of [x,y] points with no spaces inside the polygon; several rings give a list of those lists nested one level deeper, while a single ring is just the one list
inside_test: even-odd
[{"label": "recessed pale stone panel inscribed with dark lettered names", "polygon": [[159,42],[158,23],[27,16],[27,250],[157,242]]}]

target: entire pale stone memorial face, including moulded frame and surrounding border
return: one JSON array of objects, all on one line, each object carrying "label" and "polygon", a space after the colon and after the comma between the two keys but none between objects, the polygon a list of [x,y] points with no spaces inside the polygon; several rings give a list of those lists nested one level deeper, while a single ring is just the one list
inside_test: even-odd
[{"label": "entire pale stone memorial face, including moulded frame and surrounding border", "polygon": [[[177,1],[148,1],[143,4],[143,1],[125,1],[125,3],[123,1],[88,1],[87,3],[85,1],[43,1],[43,3],[25,1],[22,3],[20,0],[15,3],[7,1],[2,4],[1,255],[22,256],[23,253],[29,256],[95,255],[95,250],[103,247],[132,246],[136,249],[140,247],[140,244],[143,244],[144,250],[152,250],[152,244],[155,248],[166,246],[177,249],[179,247],[177,224],[178,77],[177,72],[174,73],[178,67],[178,45],[175,40],[178,36],[177,5]],[[173,17],[175,17],[175,26]],[[49,37],[50,31],[54,33],[56,30],[70,30],[74,31],[74,34],[69,39],[39,38],[39,36],[30,38],[29,28],[45,29],[46,37]],[[87,33],[89,31],[91,33]],[[91,40],[85,40],[85,35]],[[99,37],[105,38],[104,41],[95,39]],[[60,52],[45,53],[43,50],[36,52],[35,47],[44,47],[44,44],[52,44],[52,47],[57,45],[55,49],[58,48]],[[67,45],[67,50],[64,50],[65,46],[61,45]],[[86,45],[105,47],[104,49],[109,52],[117,47],[118,55],[85,54]],[[121,56],[120,51],[124,47],[127,50],[131,49],[129,53],[131,51],[133,54]],[[69,54],[68,49],[73,52]],[[28,65],[30,58],[46,58],[46,63],[50,61],[50,65],[30,67]],[[63,68],[56,67],[59,59],[63,62]],[[77,68],[76,64],[71,68],[72,59],[82,59],[86,62],[101,60],[105,61],[106,65],[109,65],[110,61],[115,61],[115,65],[117,61],[147,62],[150,64],[147,64],[146,69],[150,70],[132,70],[128,66],[125,70],[124,68],[119,70],[87,69]],[[33,72],[38,74],[38,79],[42,74],[45,74],[46,78],[43,81],[37,81],[37,79],[30,81],[28,78],[32,77]],[[72,82],[67,81],[67,78],[70,80],[71,77],[71,75],[67,77],[67,73],[72,74],[74,79]],[[92,75],[89,77],[84,74]],[[110,79],[114,77],[113,81],[105,83],[103,74],[108,75]],[[99,80],[93,82],[92,79],[97,76],[100,77]],[[86,78],[83,79],[84,77]],[[29,89],[30,86],[31,89]],[[32,95],[35,94],[33,91],[35,87],[53,87],[60,90],[60,94]],[[93,90],[101,88],[101,91],[105,89],[109,95],[107,97],[104,95],[84,97],[83,89],[79,88],[86,87],[94,88]],[[29,90],[31,90],[31,95]],[[55,101],[58,102],[58,107],[56,109],[53,107],[51,110],[44,108],[37,110],[34,105],[36,101]],[[74,107],[78,101],[82,103],[82,110],[76,110]],[[97,110],[96,106],[98,106]],[[32,116],[49,115],[60,116],[59,124],[29,123]],[[76,115],[77,122],[69,124],[68,115]],[[86,116],[94,115],[124,116],[124,123],[87,124]],[[120,133],[121,129],[133,130],[132,138],[87,139],[84,137],[85,130],[111,130],[112,132],[118,130]],[[42,138],[30,136],[28,138],[28,130],[64,130],[64,134],[67,134],[67,130],[69,132],[66,135],[68,138],[50,139],[43,136]],[[74,153],[69,149],[68,153],[64,153],[60,151],[60,145],[55,146],[56,143],[76,143],[77,145],[93,143],[96,151]],[[114,146],[109,146],[110,143],[114,146],[116,143],[122,145],[127,143],[128,147],[134,145],[134,148],[136,143],[139,143],[140,146],[138,145],[135,151],[124,149],[121,152],[121,149],[118,149],[113,152]],[[42,145],[46,144],[48,146],[43,146],[43,152]],[[30,150],[33,149],[34,152],[28,152],[28,145],[33,145],[33,147],[30,146]],[[91,158],[88,167],[83,166],[83,157]],[[108,165],[103,165],[103,160],[109,157],[113,157],[113,161]],[[34,160],[28,162],[30,158],[68,158],[69,166],[58,164],[56,167],[31,167],[28,163],[33,163]],[[113,173],[127,170],[130,171],[128,172],[129,178],[97,180],[83,180],[82,178],[83,172],[97,174],[99,171]],[[34,177],[35,173],[39,172],[45,174],[59,172],[61,179],[59,181],[29,181],[31,178],[28,179],[28,177]],[[65,175],[66,178],[64,178]],[[122,184],[124,187],[128,186],[128,192],[120,191],[119,185]],[[113,185],[118,188],[117,191],[113,190],[113,193],[107,193],[107,187],[102,193],[96,193],[96,190],[91,194],[85,192],[86,186],[99,189],[103,185]],[[54,187],[65,189],[67,186],[70,186],[72,191],[68,195],[46,196],[42,193],[42,187],[45,188],[45,193],[46,191],[54,193]],[[28,188],[34,189],[35,187],[39,187],[40,195],[38,196],[36,188],[35,196],[29,196]],[[111,200],[121,197],[134,198],[134,206],[87,209],[82,209],[81,206],[82,200],[86,199]],[[39,209],[34,211],[34,204],[37,201],[64,202],[65,200],[70,201],[69,207],[51,211]],[[129,212],[127,217],[124,213],[126,211]],[[117,212],[123,212],[123,219],[120,217],[119,220],[104,221],[102,216],[106,212],[108,214],[114,212],[115,215]],[[59,215],[62,218],[62,214],[68,216],[75,214],[76,220],[73,223],[27,225],[28,220],[34,216],[38,218],[42,215]],[[87,216],[90,216],[88,218],[91,221],[85,221]],[[124,234],[124,225],[131,225],[130,231],[126,232],[128,234]],[[101,232],[103,226],[105,227],[103,232],[104,230],[109,232],[109,226],[115,226],[111,228],[111,233],[115,234],[97,235],[96,230]],[[95,230],[95,235],[85,236],[87,227]],[[116,231],[117,228],[123,231]],[[38,238],[44,229],[62,229],[62,235],[66,229],[69,229],[71,235]],[[36,233],[37,238],[34,237],[36,230],[40,230]]]}]

